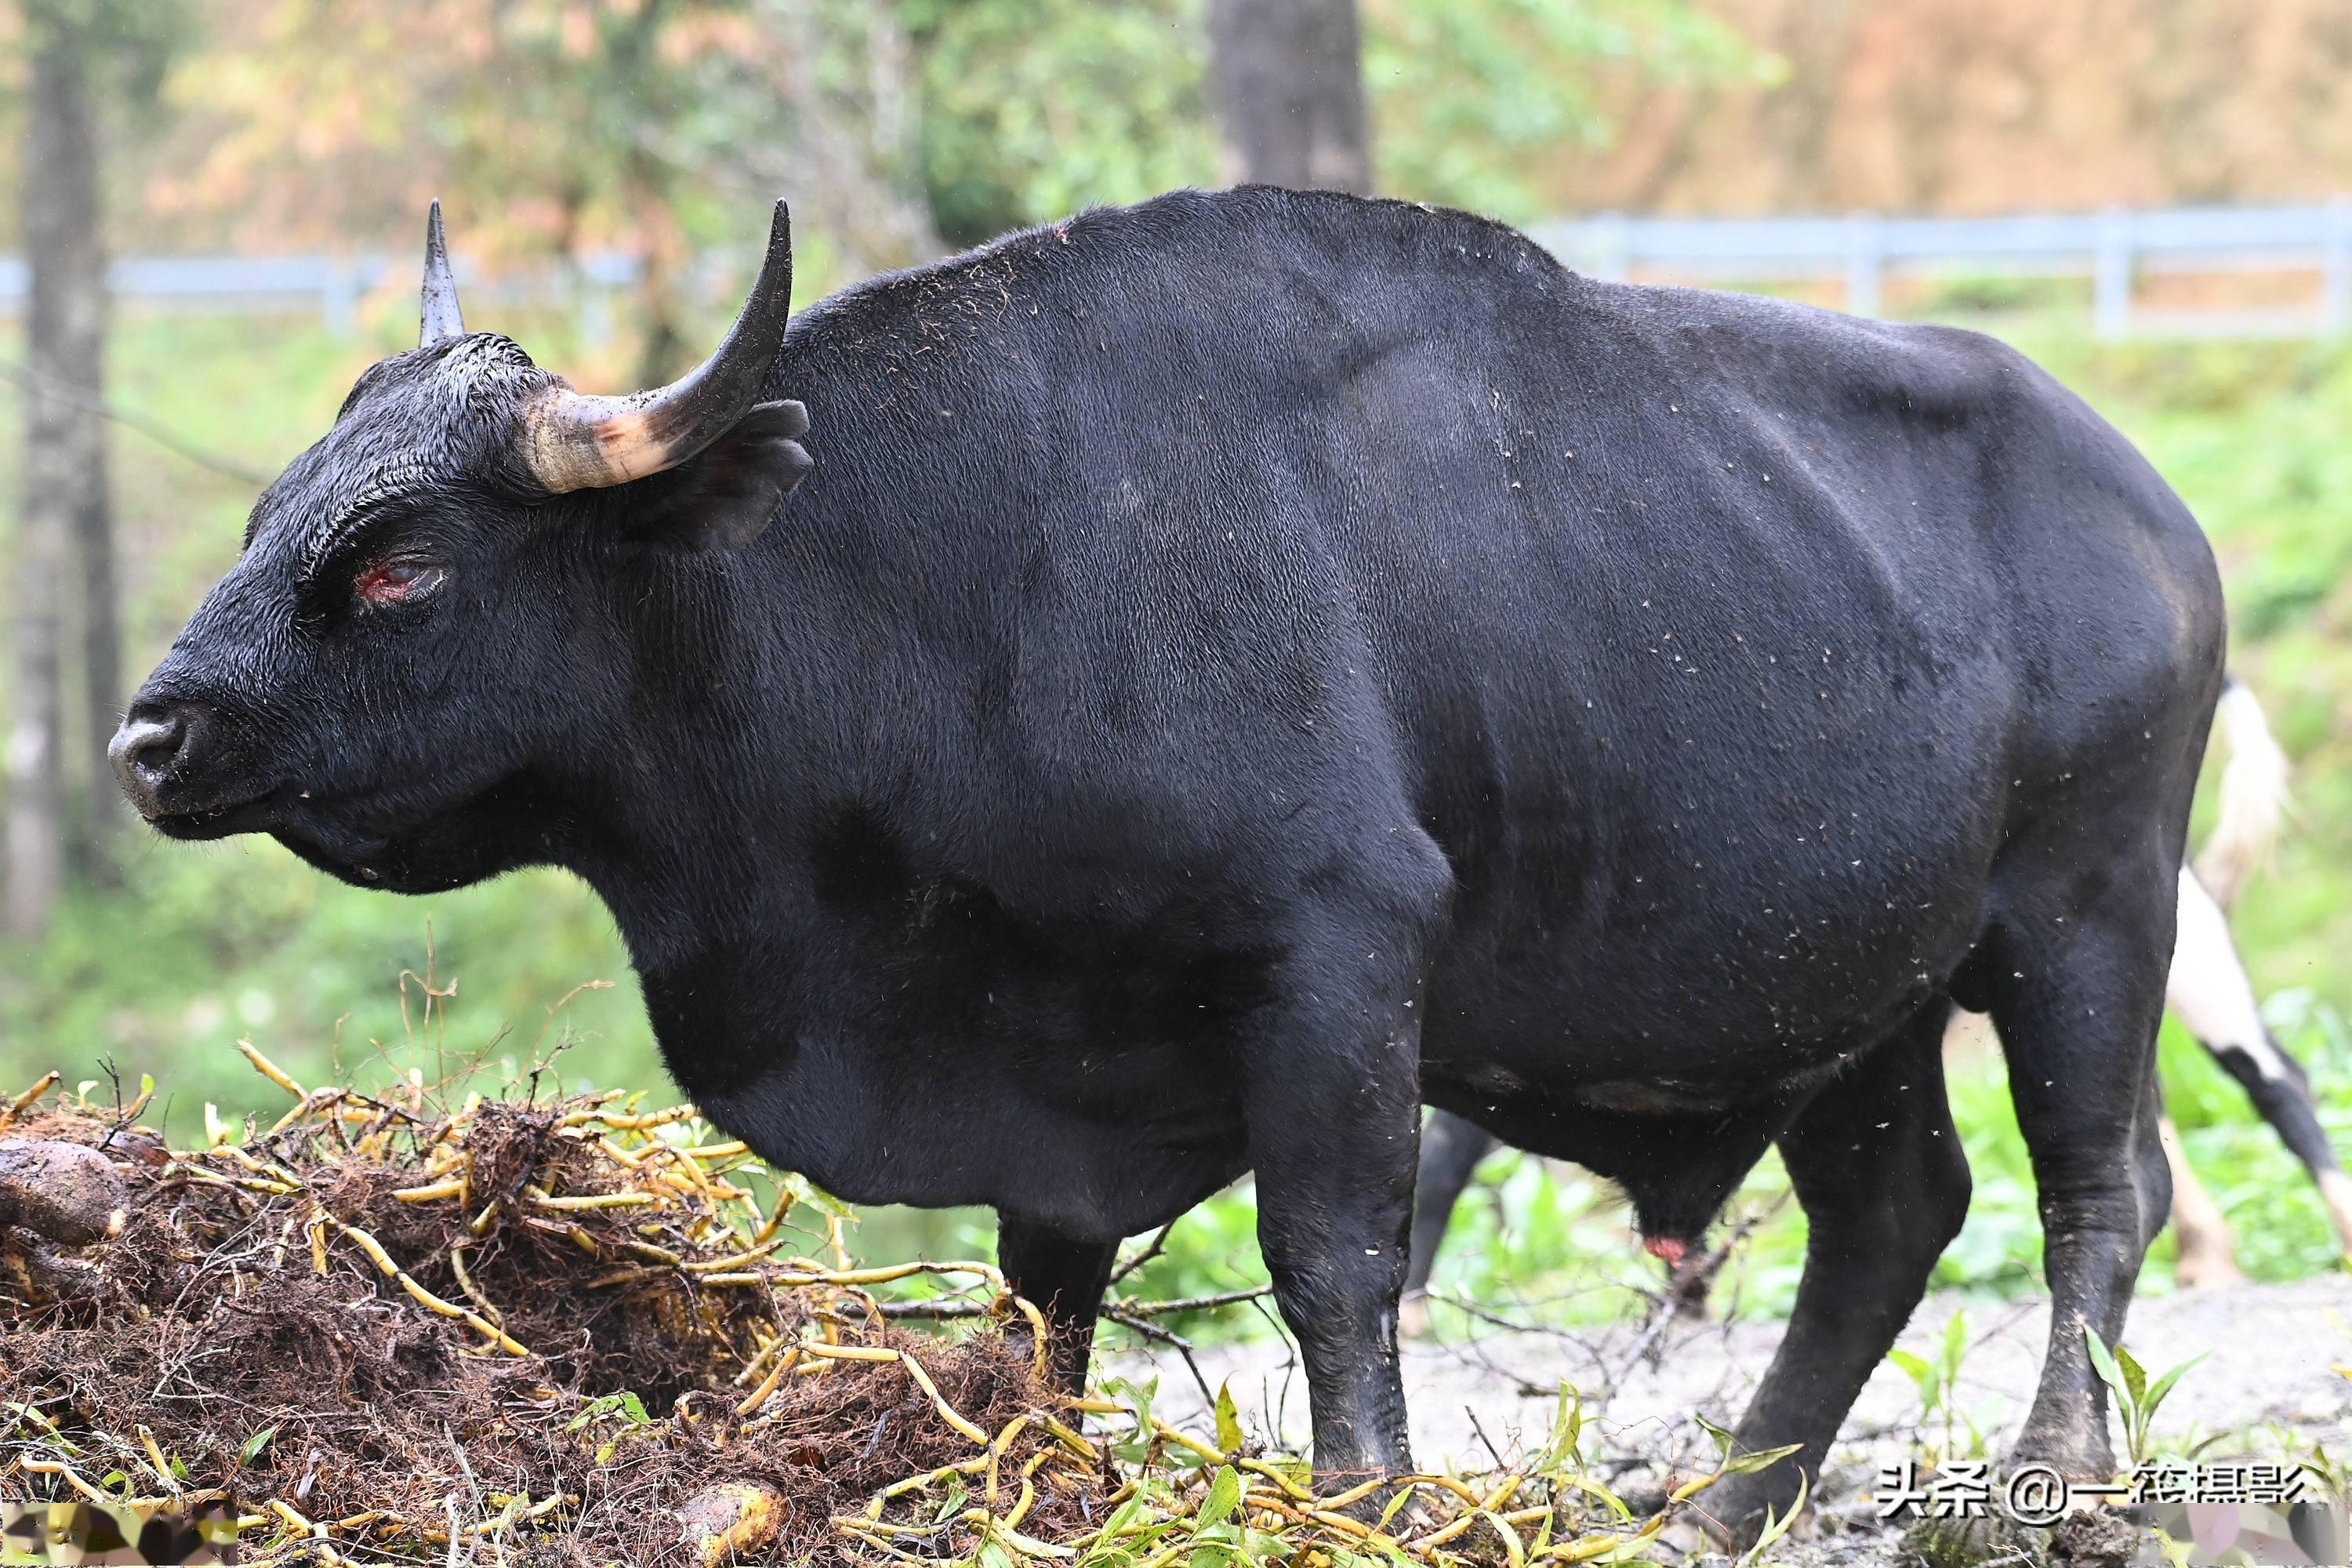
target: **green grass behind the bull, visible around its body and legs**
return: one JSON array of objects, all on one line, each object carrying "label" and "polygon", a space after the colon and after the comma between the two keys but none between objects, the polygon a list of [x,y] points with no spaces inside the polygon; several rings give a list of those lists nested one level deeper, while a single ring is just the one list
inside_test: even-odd
[{"label": "green grass behind the bull, visible around its body and legs", "polygon": [[[386,299],[362,339],[339,343],[299,320],[129,315],[115,336],[113,395],[273,473],[327,425],[358,369],[400,346],[407,320],[407,303]],[[522,324],[522,336],[574,369],[567,327],[548,317],[536,331]],[[2352,973],[2333,961],[2352,947],[2352,731],[2338,719],[2352,682],[2352,444],[2343,440],[2352,350],[2100,346],[2063,324],[2020,334],[2020,346],[2138,440],[2213,534],[2237,625],[2234,665],[2298,766],[2293,832],[2253,884],[2237,931],[2258,987],[2291,1025],[2288,1044],[2312,1065],[2331,1128],[2352,1143],[2352,1051],[2340,1023],[2352,1013]],[[0,350],[14,355],[14,346]],[[5,393],[0,421],[14,428]],[[132,433],[118,433],[115,477],[127,670],[136,675],[233,559],[252,491]],[[0,465],[0,487],[12,482],[14,465]],[[5,524],[14,505],[0,503]],[[120,889],[78,891],[49,940],[0,952],[0,1093],[49,1065],[82,1079],[103,1077],[111,1063],[132,1084],[153,1072],[183,1131],[205,1100],[230,1114],[280,1107],[282,1095],[238,1060],[240,1037],[299,1077],[327,1077],[336,1063],[365,1074],[379,1051],[379,1072],[412,1063],[437,1072],[435,1041],[414,1034],[414,980],[407,1025],[400,1011],[402,976],[423,976],[428,950],[435,973],[459,985],[440,1034],[447,1056],[529,1065],[562,1046],[555,1072],[567,1084],[663,1081],[612,922],[564,875],[386,898],[334,884],[266,842],[176,846],[134,835],[129,844]],[[576,990],[590,980],[609,990]],[[2237,1086],[2173,1032],[2164,1067],[2190,1159],[2237,1227],[2241,1265],[2258,1279],[2331,1267],[2310,1185]],[[1957,1077],[1952,1100],[1976,1201],[1938,1284],[1987,1295],[2032,1288],[2039,1227],[1997,1063]],[[1597,1185],[1517,1154],[1496,1157],[1491,1175],[1494,1187],[1463,1206],[1442,1286],[1512,1312],[1590,1319],[1623,1312],[1656,1284],[1656,1265]],[[1736,1213],[1771,1208],[1783,1187],[1778,1164],[1766,1161]],[[882,1260],[983,1244],[978,1215],[873,1213],[858,1251]],[[1724,1298],[1736,1288],[1743,1312],[1783,1309],[1802,1251],[1802,1218],[1783,1204],[1755,1227]],[[2152,1288],[2169,1258],[2171,1244],[2159,1241]],[[1178,1225],[1141,1284],[1207,1293],[1254,1279],[1263,1262],[1244,1187]],[[1235,1314],[1228,1326],[1251,1321]]]}]

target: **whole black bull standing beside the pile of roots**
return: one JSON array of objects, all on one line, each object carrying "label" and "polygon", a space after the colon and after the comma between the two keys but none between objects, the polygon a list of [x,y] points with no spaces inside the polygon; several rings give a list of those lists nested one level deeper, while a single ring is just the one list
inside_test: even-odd
[{"label": "whole black bull standing beside the pile of roots", "polygon": [[2223,607],[2016,353],[1265,188],[781,346],[764,280],[652,402],[445,284],[134,703],[160,827],[402,891],[572,867],[701,1107],[849,1199],[993,1206],[1073,1378],[1115,1244],[1254,1168],[1327,1476],[1406,1465],[1423,1103],[1665,1248],[1778,1138],[1811,1251],[1740,1441],[1818,1467],[1969,1201],[1957,999],[2042,1190],[2020,1448],[2110,1469],[2082,1328],[2166,1213]]}]

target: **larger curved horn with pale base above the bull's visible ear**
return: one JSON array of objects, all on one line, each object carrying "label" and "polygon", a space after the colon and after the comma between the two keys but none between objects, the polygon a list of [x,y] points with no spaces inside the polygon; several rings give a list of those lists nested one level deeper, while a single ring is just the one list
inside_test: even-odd
[{"label": "larger curved horn with pale base above the bull's visible ear", "polygon": [[776,202],[760,280],[717,350],[670,386],[630,397],[553,386],[522,414],[522,461],[557,496],[684,463],[760,402],[790,308],[793,216]]}]

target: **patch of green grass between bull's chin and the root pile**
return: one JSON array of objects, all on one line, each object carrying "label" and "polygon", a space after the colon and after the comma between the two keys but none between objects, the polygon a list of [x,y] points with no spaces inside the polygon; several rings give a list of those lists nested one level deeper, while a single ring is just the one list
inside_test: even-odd
[{"label": "patch of green grass between bull's chin and the root pile", "polygon": [[[0,971],[12,1041],[0,1060],[12,1079],[52,1065],[68,1081],[169,1067],[174,1100],[158,1119],[174,1135],[193,1135],[207,1100],[228,1119],[273,1105],[270,1084],[228,1048],[247,1037],[303,1081],[372,1058],[383,1077],[416,1065],[430,1081],[480,1056],[527,1070],[560,1046],[567,1086],[659,1081],[626,954],[586,886],[532,872],[428,903],[386,907],[275,844],[146,856],[120,893],[78,893],[49,940]],[[125,907],[139,910],[134,945]],[[506,961],[456,973],[461,1023],[428,1032],[421,983],[449,976],[445,943]],[[609,987],[550,1013],[588,980]]]}]

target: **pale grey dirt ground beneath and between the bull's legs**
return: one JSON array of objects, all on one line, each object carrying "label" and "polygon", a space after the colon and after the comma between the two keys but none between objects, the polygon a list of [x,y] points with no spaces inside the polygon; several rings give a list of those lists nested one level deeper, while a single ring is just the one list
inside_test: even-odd
[{"label": "pale grey dirt ground beneath and between the bull's legs", "polygon": [[[1957,1403],[1983,1429],[1987,1450],[1999,1455],[2032,1401],[2049,1305],[1929,1298],[1903,1345],[1933,1356],[1955,1309],[1966,1309],[1971,1342]],[[1736,1422],[1780,1331],[1780,1324],[1670,1321],[1644,1342],[1630,1324],[1576,1333],[1482,1326],[1477,1333],[1411,1340],[1404,1392],[1416,1458],[1463,1469],[1491,1469],[1515,1458],[1522,1446],[1545,1439],[1559,1380],[1566,1378],[1583,1396],[1585,1453],[1597,1455],[1602,1474],[1639,1505],[1644,1493],[1656,1493],[1665,1469],[1689,1476],[1708,1467],[1715,1446],[1689,1413]],[[2178,1455],[2204,1439],[2218,1439],[2201,1450],[2204,1460],[2303,1455],[2314,1441],[2338,1460],[2352,1450],[2352,1378],[2333,1371],[2352,1366],[2347,1274],[2143,1295],[2131,1309],[2124,1345],[2150,1375],[2206,1356],[2159,1410],[2159,1450]],[[1305,1382],[1289,1345],[1268,1338],[1202,1347],[1195,1361],[1211,1389],[1230,1380],[1251,1432],[1279,1434],[1287,1446],[1305,1443]],[[1124,1356],[1115,1371],[1157,1373],[1167,1415],[1209,1420],[1200,1387],[1174,1349]],[[1900,1537],[1875,1521],[1867,1493],[1879,1465],[1919,1455],[1917,1422],[1919,1394],[1910,1378],[1879,1366],[1830,1455],[1811,1540],[1773,1556],[1856,1568],[1903,1561]]]}]

